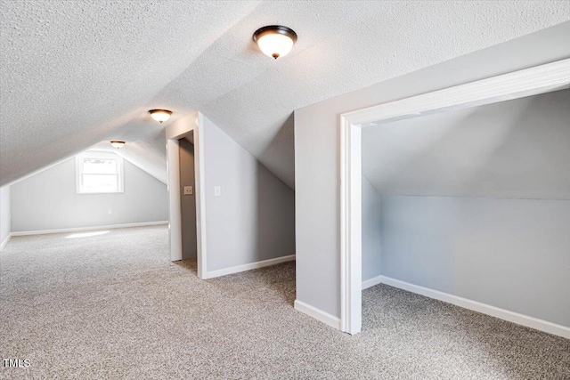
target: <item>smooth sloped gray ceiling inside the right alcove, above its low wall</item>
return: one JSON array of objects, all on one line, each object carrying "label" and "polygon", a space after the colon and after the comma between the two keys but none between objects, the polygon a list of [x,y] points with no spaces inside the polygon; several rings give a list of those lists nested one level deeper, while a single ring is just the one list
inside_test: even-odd
[{"label": "smooth sloped gray ceiling inside the right alcove, above its low wall", "polygon": [[380,194],[570,199],[570,90],[364,128]]}]

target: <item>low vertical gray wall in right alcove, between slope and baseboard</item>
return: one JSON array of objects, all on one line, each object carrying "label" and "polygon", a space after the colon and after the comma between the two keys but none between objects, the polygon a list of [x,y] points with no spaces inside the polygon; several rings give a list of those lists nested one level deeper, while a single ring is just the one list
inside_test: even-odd
[{"label": "low vertical gray wall in right alcove, between slope and baseboard", "polygon": [[382,196],[382,274],[570,327],[570,201]]}]

